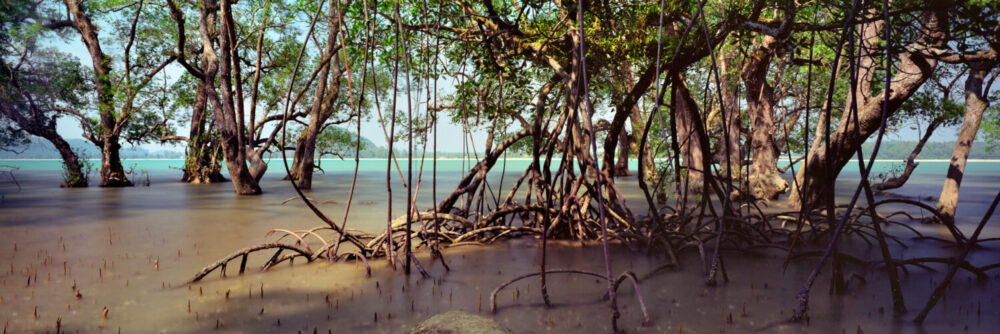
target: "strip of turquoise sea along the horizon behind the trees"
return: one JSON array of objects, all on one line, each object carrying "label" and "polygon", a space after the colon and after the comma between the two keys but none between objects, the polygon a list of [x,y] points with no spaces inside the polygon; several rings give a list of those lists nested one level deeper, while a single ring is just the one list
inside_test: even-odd
[{"label": "strip of turquoise sea along the horizon behind the trees", "polygon": [[[91,159],[90,162],[95,166],[100,165],[100,160]],[[407,161],[405,159],[399,159],[399,166],[401,169],[406,170]],[[427,159],[424,161],[424,170],[431,169],[432,160]],[[136,172],[163,172],[163,171],[178,171],[180,172],[181,167],[184,166],[184,160],[182,159],[129,159],[124,160],[122,163],[125,165],[126,170],[134,170]],[[291,161],[289,161],[291,163]],[[475,165],[476,161],[473,160],[438,160],[437,168],[438,171],[442,172],[459,172],[468,170],[472,165]],[[889,171],[894,165],[902,166],[902,161],[876,161],[872,175],[879,172]],[[499,170],[504,164],[503,160],[497,161],[497,165],[494,167]],[[531,164],[531,160],[528,159],[508,159],[506,161],[507,169],[509,170],[524,170]],[[553,162],[553,165],[556,163]],[[779,162],[779,166],[786,166],[787,162]],[[62,169],[61,160],[2,160],[0,159],[0,169],[8,169],[10,167],[15,167],[19,171],[58,171]],[[320,167],[327,172],[350,172],[354,170],[353,160],[323,160],[320,162]],[[386,167],[386,162],[384,159],[370,159],[361,160],[361,171],[375,172],[384,171]],[[802,163],[796,164],[795,168],[801,168]],[[420,168],[420,160],[413,161],[413,168]],[[637,161],[630,160],[629,168],[635,170],[637,168]],[[917,168],[920,172],[941,172],[946,173],[948,171],[947,161],[923,161],[920,162]],[[225,166],[223,166],[223,171],[225,171]],[[970,161],[966,165],[967,172],[996,172],[1000,171],[1000,161]],[[283,174],[285,172],[285,167],[281,159],[272,159],[268,161],[268,175]],[[857,162],[848,163],[844,166],[842,173],[845,174],[856,174],[858,172]]]}]

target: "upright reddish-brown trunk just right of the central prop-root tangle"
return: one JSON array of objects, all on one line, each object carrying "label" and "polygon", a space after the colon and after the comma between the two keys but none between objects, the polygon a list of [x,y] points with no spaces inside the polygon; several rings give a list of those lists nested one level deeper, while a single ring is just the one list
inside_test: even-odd
[{"label": "upright reddish-brown trunk just right of the central prop-root tangle", "polygon": [[701,193],[705,164],[702,161],[702,144],[698,133],[695,131],[695,120],[700,119],[698,105],[691,97],[691,90],[681,75],[672,78],[675,85],[676,109],[673,110],[677,117],[677,139],[680,141],[680,153],[687,169],[687,188],[694,193]]}]

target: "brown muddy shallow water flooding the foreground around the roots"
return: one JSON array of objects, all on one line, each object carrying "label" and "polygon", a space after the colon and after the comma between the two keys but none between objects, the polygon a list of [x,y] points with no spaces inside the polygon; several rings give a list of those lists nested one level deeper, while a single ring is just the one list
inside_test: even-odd
[{"label": "brown muddy shallow water flooding the foreground around the roots", "polygon": [[[447,310],[488,315],[490,292],[497,285],[537,270],[538,241],[517,239],[491,246],[463,246],[445,250],[452,270],[418,257],[433,279],[394,271],[384,260],[372,263],[365,277],[357,263],[282,264],[268,271],[248,270],[244,276],[230,268],[229,276],[213,273],[193,285],[185,282],[203,266],[237,249],[274,240],[271,228],[305,229],[320,224],[297,200],[282,204],[294,192],[277,176],[268,176],[265,194],[236,198],[232,187],[185,185],[176,175],[152,175],[151,187],[128,189],[58,189],[51,172],[19,173],[24,189],[4,183],[0,203],[0,323],[9,333],[55,332],[57,319],[66,332],[193,333],[221,332],[401,332],[417,322]],[[384,172],[366,172],[351,209],[349,228],[376,231],[386,219]],[[394,181],[398,181],[395,174]],[[443,197],[458,174],[439,176]],[[504,188],[516,180],[507,175]],[[495,180],[499,181],[499,180]],[[934,195],[934,180],[916,179],[902,192]],[[926,181],[926,182],[925,182]],[[310,196],[339,221],[350,176],[319,175]],[[911,181],[912,182],[912,181]],[[495,182],[494,184],[498,184]],[[996,175],[966,176],[959,220],[971,233],[973,224],[1000,184]],[[856,180],[845,177],[842,196],[849,196]],[[622,182],[623,191],[638,190]],[[939,189],[939,188],[937,188]],[[420,207],[427,207],[430,185],[421,191]],[[925,194],[926,193],[926,194]],[[971,195],[970,195],[971,194]],[[394,184],[394,214],[405,210],[405,194]],[[845,202],[847,199],[841,199]],[[884,210],[890,212],[904,207]],[[773,208],[780,209],[780,208]],[[918,210],[910,212],[919,216]],[[1000,236],[997,223],[984,238]],[[914,223],[925,232],[936,227]],[[934,241],[913,241],[899,228],[906,248],[893,245],[896,257],[948,257],[955,249]],[[319,246],[318,242],[312,243]],[[971,262],[983,265],[1000,259],[1000,243],[977,250]],[[855,241],[845,245],[851,254],[873,258],[874,248]],[[550,246],[550,268],[572,268],[603,273],[598,244],[559,242]],[[258,268],[270,254],[251,257],[248,268]],[[960,272],[947,298],[939,303],[923,327],[909,320],[923,306],[944,269],[927,272],[909,267],[904,291],[909,314],[891,314],[888,283],[880,267],[849,266],[857,273],[843,296],[827,293],[824,272],[813,288],[808,324],[790,324],[794,295],[815,259],[800,259],[782,270],[783,253],[760,250],[754,254],[725,252],[730,281],[706,287],[697,253],[681,256],[680,268],[662,268],[662,254],[634,253],[613,247],[615,273],[630,270],[640,279],[641,295],[651,323],[642,325],[636,290],[623,285],[620,324],[633,332],[963,332],[993,333],[1000,326],[1000,279],[979,282]],[[235,265],[233,266],[235,267]],[[75,286],[75,289],[74,289]],[[607,332],[610,311],[602,299],[606,285],[589,276],[550,276],[553,307],[545,307],[537,278],[515,283],[497,298],[493,315],[515,332]],[[79,292],[79,297],[77,296]],[[106,317],[104,309],[107,309]],[[731,319],[731,320],[730,320]]]}]

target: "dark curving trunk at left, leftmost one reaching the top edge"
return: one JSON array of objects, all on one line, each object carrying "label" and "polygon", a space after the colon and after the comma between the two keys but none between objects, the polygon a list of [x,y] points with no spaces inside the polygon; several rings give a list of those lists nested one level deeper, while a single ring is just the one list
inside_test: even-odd
[{"label": "dark curving trunk at left, leftmost one reaching the top edge", "polygon": [[125,176],[118,156],[118,132],[114,110],[114,91],[111,89],[111,58],[101,50],[97,38],[97,28],[84,12],[81,0],[64,0],[66,9],[73,16],[73,28],[80,33],[94,68],[94,83],[97,86],[97,109],[101,119],[101,187],[126,187],[132,182]]}]

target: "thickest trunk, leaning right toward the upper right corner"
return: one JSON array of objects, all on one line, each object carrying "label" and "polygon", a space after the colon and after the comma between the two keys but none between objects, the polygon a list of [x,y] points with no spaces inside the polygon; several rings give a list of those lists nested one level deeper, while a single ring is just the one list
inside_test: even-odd
[{"label": "thickest trunk, leaning right toward the upper right corner", "polygon": [[[925,48],[927,45],[940,46],[947,37],[947,3],[934,3],[932,6],[932,11],[925,12],[921,18],[920,37],[911,45],[916,49]],[[886,110],[888,116],[895,113],[899,106],[930,78],[937,67],[937,60],[925,58],[918,53],[903,52],[899,54],[895,67],[898,70],[895,71],[896,74],[892,78],[892,90],[889,92]],[[832,192],[830,188],[835,180],[826,180],[825,178],[831,176],[836,178],[844,165],[851,160],[855,153],[856,139],[864,142],[879,129],[885,94],[883,89],[878,96],[858,106],[858,123],[861,126],[861,129],[857,129],[859,137],[856,138],[854,135],[854,122],[847,122],[847,117],[851,113],[845,111],[836,131],[831,133],[830,155],[827,155],[827,150],[824,147],[814,145],[814,149],[809,152],[807,158],[808,174],[806,174],[805,169],[802,169],[796,176],[798,184],[808,184],[810,191],[802,194],[796,189],[792,189],[792,193],[788,197],[789,204],[817,208],[822,203],[823,198],[829,196],[829,193]],[[849,104],[845,108],[850,108]]]}]

